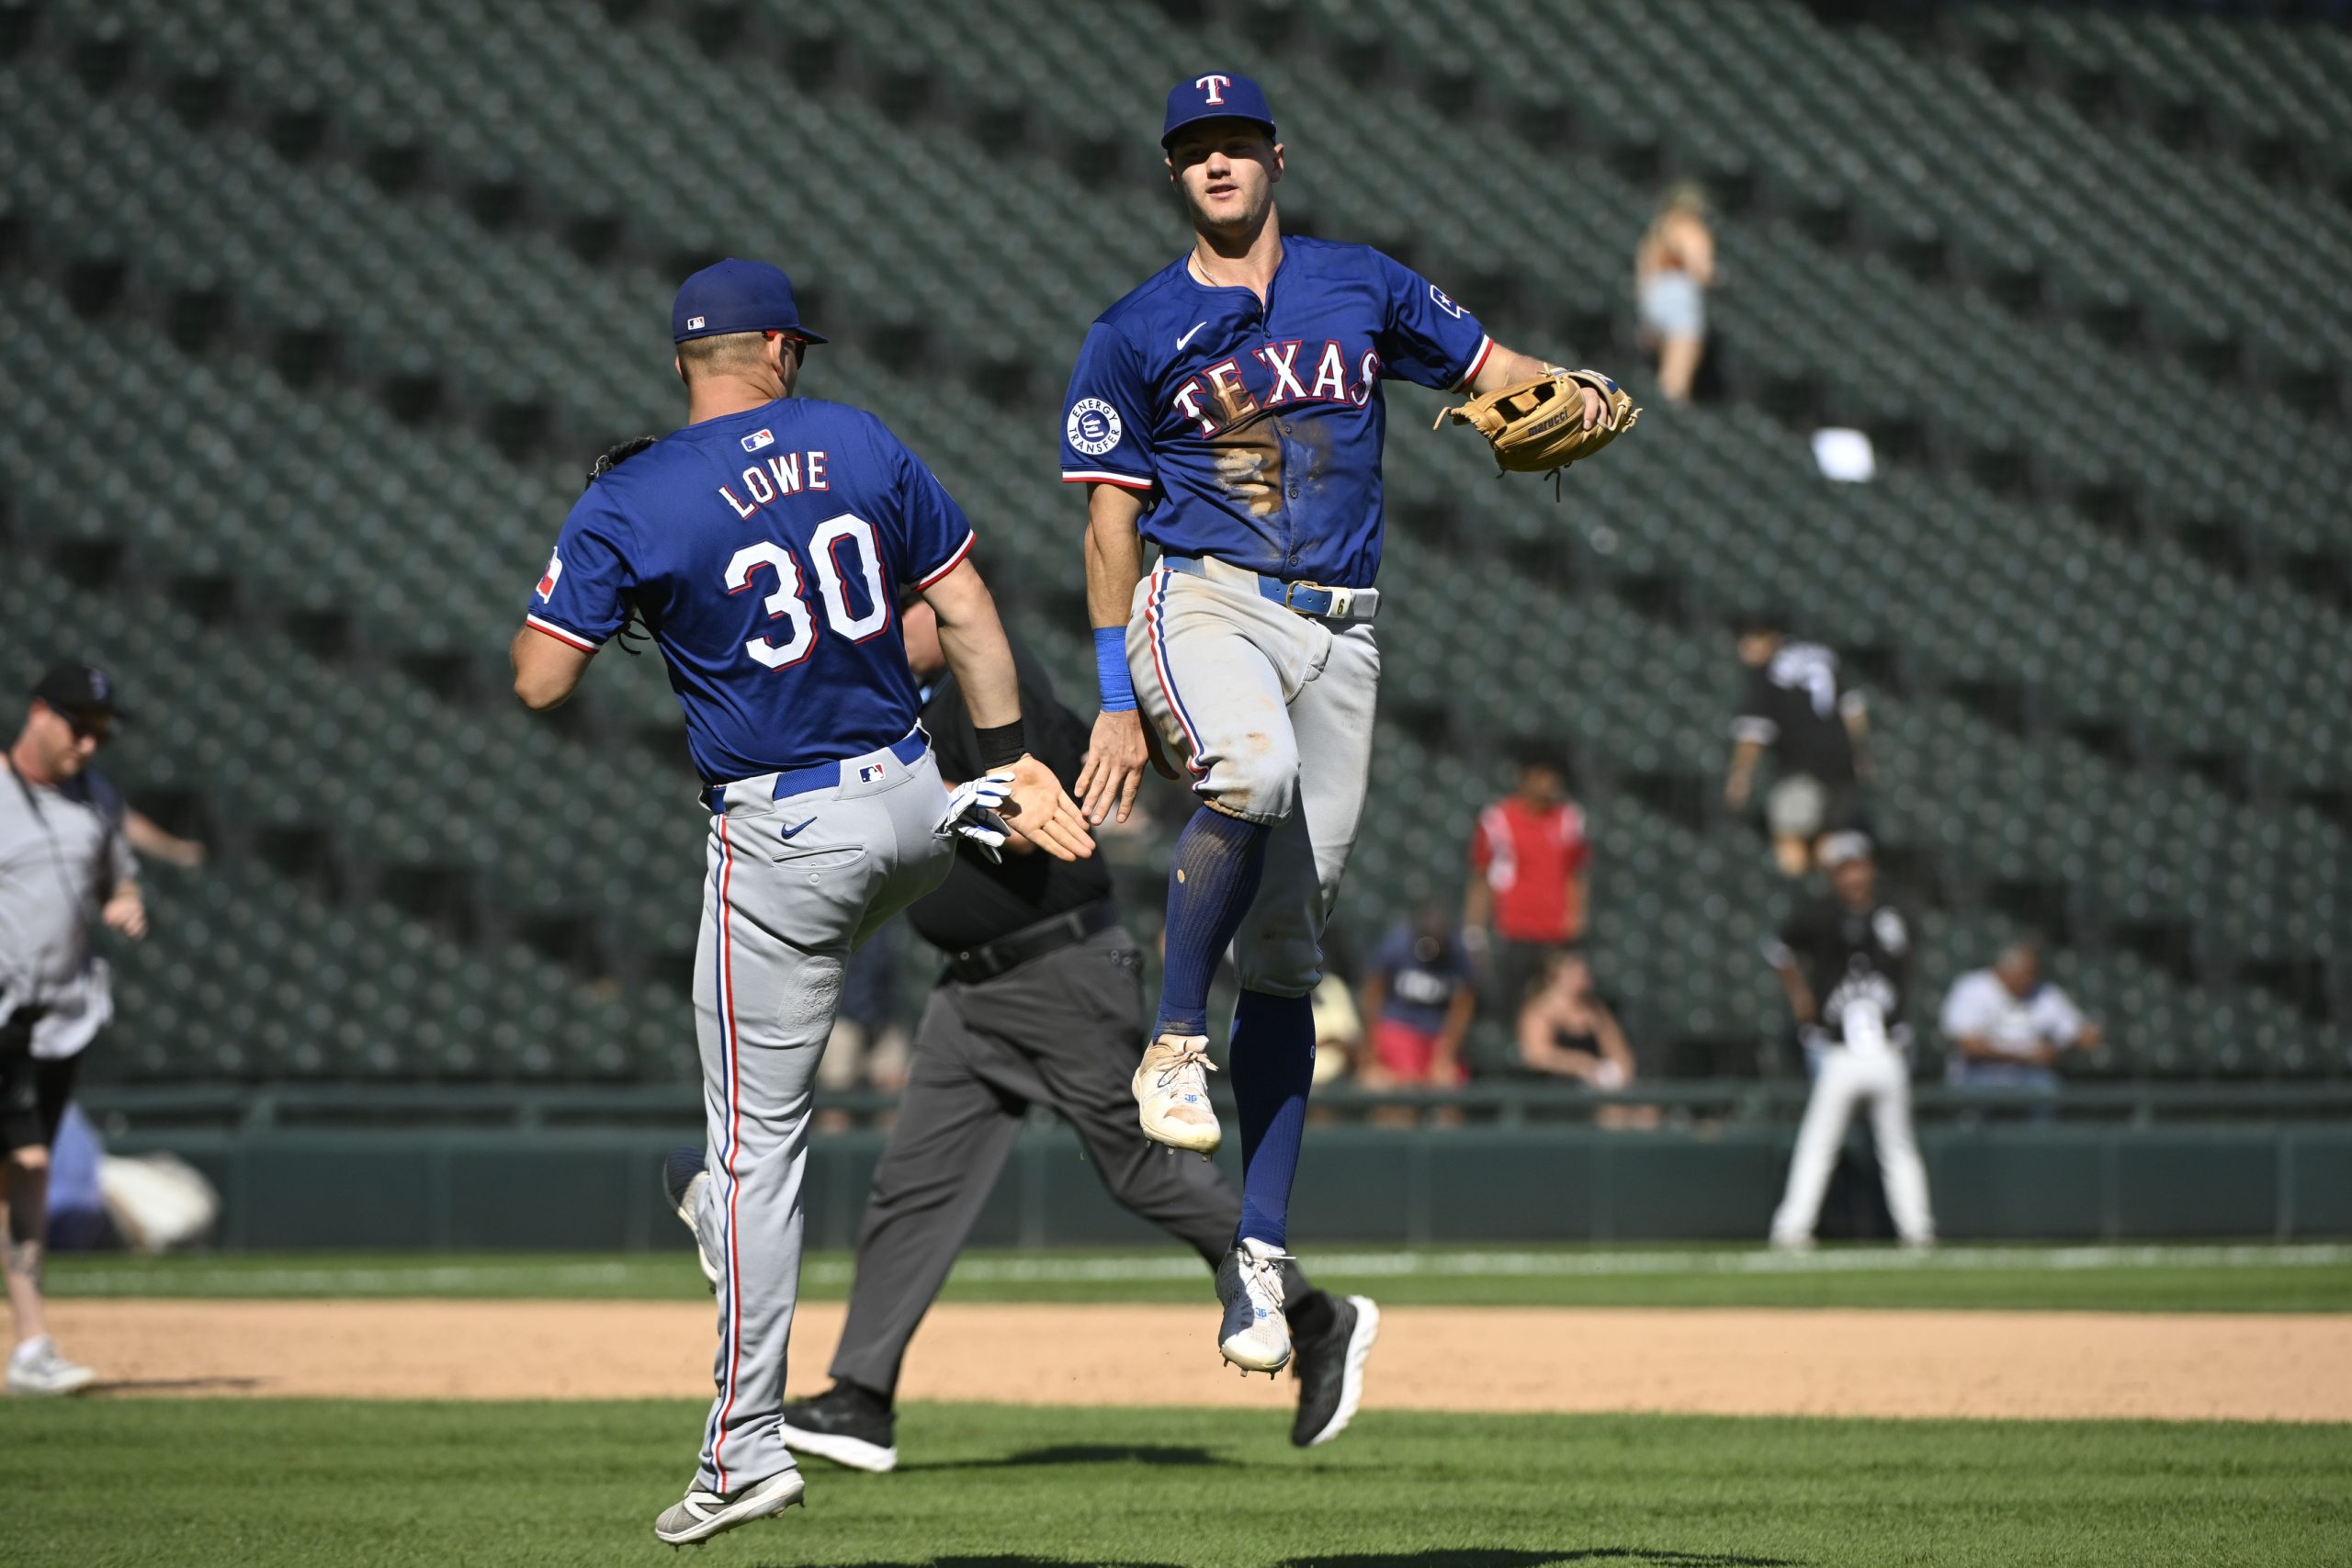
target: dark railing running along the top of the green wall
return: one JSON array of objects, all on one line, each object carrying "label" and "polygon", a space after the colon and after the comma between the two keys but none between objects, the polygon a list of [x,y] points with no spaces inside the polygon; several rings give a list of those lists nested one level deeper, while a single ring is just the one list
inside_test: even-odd
[{"label": "dark railing running along the top of the green wall", "polygon": [[[85,1110],[111,1128],[619,1128],[701,1126],[696,1088],[626,1084],[122,1084],[92,1086]],[[1218,1086],[1223,1110],[1230,1098]],[[1470,1084],[1463,1088],[1371,1091],[1319,1088],[1317,1119],[1421,1126],[1623,1124],[1630,1114],[1677,1126],[1705,1121],[1795,1121],[1806,1084],[1797,1079],[1693,1079],[1642,1084],[1623,1093],[1588,1093],[1564,1084]],[[870,1126],[896,1110],[889,1093],[818,1093],[823,1126]],[[1922,1121],[2345,1121],[2352,1084],[2079,1084],[2042,1095],[2002,1088],[1922,1084],[1912,1098]],[[1646,1110],[1644,1110],[1646,1107]]]}]

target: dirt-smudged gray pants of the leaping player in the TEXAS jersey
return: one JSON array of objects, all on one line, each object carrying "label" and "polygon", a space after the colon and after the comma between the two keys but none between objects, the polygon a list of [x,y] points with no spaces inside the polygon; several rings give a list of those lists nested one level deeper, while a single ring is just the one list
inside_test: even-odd
[{"label": "dirt-smudged gray pants of the leaping player in the TEXAS jersey", "polygon": [[1244,990],[1305,997],[1364,818],[1381,646],[1258,597],[1256,574],[1155,567],[1136,583],[1127,663],[1192,792],[1272,823],[1265,877],[1232,938]]}]

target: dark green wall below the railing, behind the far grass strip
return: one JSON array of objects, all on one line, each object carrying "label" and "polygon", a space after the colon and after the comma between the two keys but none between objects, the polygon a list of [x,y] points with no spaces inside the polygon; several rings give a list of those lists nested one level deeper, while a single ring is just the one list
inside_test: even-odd
[{"label": "dark green wall below the railing, behind the far grass strip", "polygon": [[[809,1244],[851,1246],[880,1135],[818,1138]],[[661,1133],[249,1131],[127,1135],[219,1182],[233,1248],[670,1248]],[[1790,1128],[1310,1128],[1294,1232],[1322,1244],[1635,1241],[1764,1234]],[[1872,1211],[1865,1140],[1837,1213]],[[1924,1128],[1947,1239],[2352,1234],[2352,1126]],[[1230,1173],[1230,1154],[1228,1154]],[[1844,1201],[1842,1201],[1844,1199]],[[981,1213],[981,1246],[1148,1244],[1061,1128],[1023,1135]]]}]

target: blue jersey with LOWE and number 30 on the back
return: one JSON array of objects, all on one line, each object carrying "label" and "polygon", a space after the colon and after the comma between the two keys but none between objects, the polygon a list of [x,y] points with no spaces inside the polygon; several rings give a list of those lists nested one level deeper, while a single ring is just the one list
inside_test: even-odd
[{"label": "blue jersey with LOWE and number 30 on the back", "polygon": [[590,484],[527,621],[595,651],[635,609],[694,766],[727,783],[915,729],[898,592],[969,552],[962,508],[880,418],[781,397],[675,430]]}]

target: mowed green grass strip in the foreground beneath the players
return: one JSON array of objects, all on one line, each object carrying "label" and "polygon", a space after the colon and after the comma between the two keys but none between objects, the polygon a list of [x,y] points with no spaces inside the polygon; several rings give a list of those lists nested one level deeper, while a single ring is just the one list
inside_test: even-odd
[{"label": "mowed green grass strip in the foreground beneath the players", "polygon": [[[9,1406],[21,1568],[656,1563],[701,1408]],[[1296,1453],[1230,1413],[915,1406],[906,1465],[811,1462],[729,1563],[1538,1568],[2343,1563],[2352,1427],[1369,1413]]]}]

